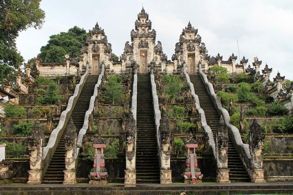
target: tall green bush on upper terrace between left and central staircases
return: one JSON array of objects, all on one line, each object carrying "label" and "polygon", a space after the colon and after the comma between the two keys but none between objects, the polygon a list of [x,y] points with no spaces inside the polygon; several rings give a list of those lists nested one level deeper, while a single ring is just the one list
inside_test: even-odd
[{"label": "tall green bush on upper terrace between left and central staircases", "polygon": [[108,83],[105,86],[104,99],[106,103],[122,103],[125,99],[125,94],[122,91],[122,78],[120,76],[111,75]]}]

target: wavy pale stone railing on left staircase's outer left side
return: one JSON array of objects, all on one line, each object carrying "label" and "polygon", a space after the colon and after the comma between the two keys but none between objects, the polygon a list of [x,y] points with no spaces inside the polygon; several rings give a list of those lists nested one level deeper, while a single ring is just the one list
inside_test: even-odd
[{"label": "wavy pale stone railing on left staircase's outer left side", "polygon": [[88,77],[88,64],[86,64],[86,71],[84,75],[81,77],[79,84],[75,86],[73,95],[68,100],[66,110],[64,110],[61,113],[58,126],[51,132],[47,145],[43,147],[42,162],[44,163],[43,165],[45,166],[45,169],[43,169],[43,171],[46,170],[46,167],[49,165],[49,161],[51,157],[53,156],[53,153],[55,152],[58,142],[63,134],[63,130],[65,129],[66,124],[74,109],[74,106],[81,94],[81,91],[84,87],[84,83],[87,77]]}]

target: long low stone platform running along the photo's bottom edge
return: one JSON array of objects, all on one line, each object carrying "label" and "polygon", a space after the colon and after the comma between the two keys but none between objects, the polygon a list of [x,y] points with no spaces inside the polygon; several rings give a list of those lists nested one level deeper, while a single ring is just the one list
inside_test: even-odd
[{"label": "long low stone platform running along the photo's bottom edge", "polygon": [[140,184],[124,187],[123,184],[107,185],[1,185],[0,195],[238,195],[238,194],[293,194],[293,182],[280,183],[202,183]]}]

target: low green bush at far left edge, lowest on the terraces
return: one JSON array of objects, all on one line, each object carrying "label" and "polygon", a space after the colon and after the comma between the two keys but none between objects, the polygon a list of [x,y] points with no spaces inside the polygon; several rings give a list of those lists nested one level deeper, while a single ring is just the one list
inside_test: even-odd
[{"label": "low green bush at far left edge, lowest on the terraces", "polygon": [[14,143],[8,141],[0,141],[0,144],[6,143],[5,156],[9,157],[20,157],[26,153],[27,145],[23,142]]}]

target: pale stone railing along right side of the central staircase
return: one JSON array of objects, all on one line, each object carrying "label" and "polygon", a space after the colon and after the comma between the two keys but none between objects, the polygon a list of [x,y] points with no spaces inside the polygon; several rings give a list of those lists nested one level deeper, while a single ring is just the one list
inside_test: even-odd
[{"label": "pale stone railing along right side of the central staircase", "polygon": [[[161,120],[161,111],[159,109],[159,98],[157,95],[157,86],[155,82],[155,77],[153,70],[150,70],[150,83],[151,83],[151,92],[152,92],[152,98],[153,98],[153,107],[154,107],[154,115],[155,115],[155,124],[156,124],[156,135],[157,135],[157,144],[158,144],[158,152],[159,155],[161,155],[161,144],[160,144],[160,132],[159,132],[159,127],[160,127],[160,120]],[[160,159],[161,161],[162,159]]]}]

